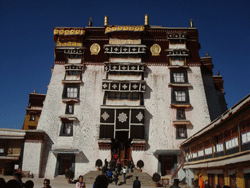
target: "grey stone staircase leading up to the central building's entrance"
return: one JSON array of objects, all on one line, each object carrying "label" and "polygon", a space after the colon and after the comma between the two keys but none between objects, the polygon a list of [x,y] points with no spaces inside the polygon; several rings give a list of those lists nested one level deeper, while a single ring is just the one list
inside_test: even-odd
[{"label": "grey stone staircase leading up to the central building's entrance", "polygon": [[[133,170],[134,170],[133,172],[128,172],[126,174],[126,183],[123,181],[123,175],[122,174],[119,175],[118,185],[123,185],[123,184],[133,185],[135,177],[138,176],[138,179],[140,180],[142,186],[154,186],[154,182],[152,181],[151,176],[149,176],[145,172],[138,172],[137,169],[133,169]],[[89,173],[83,176],[83,181],[86,184],[93,184],[95,181],[95,178],[101,174],[102,174],[101,171],[90,171]],[[110,184],[115,185],[115,182],[112,182]]]}]

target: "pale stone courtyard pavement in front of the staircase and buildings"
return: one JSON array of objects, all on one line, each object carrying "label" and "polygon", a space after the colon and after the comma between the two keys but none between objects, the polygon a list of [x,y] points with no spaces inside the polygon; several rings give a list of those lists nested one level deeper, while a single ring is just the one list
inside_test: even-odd
[{"label": "pale stone courtyard pavement in front of the staircase and buildings", "polygon": [[[4,178],[5,181],[9,181],[10,179],[13,179],[12,176],[3,176],[0,175],[0,178]],[[35,184],[34,188],[42,188],[43,187],[43,180],[44,178],[23,178],[22,181],[25,183],[27,180],[32,180]],[[119,182],[118,182],[119,183]],[[66,179],[62,179],[62,178],[56,178],[56,179],[50,179],[50,185],[52,188],[75,188],[76,184],[71,183],[68,184]],[[86,184],[86,188],[92,188],[93,185],[92,184]],[[113,184],[110,184],[108,186],[108,188],[132,188],[131,185],[126,185],[123,184],[121,186],[116,186]],[[153,188],[153,186],[142,186],[142,188]]]}]

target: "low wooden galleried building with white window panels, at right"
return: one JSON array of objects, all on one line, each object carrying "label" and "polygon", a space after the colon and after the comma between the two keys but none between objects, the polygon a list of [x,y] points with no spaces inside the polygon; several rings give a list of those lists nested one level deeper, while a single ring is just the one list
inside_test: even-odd
[{"label": "low wooden galleried building with white window panels, at right", "polygon": [[189,185],[250,187],[250,94],[181,144]]}]

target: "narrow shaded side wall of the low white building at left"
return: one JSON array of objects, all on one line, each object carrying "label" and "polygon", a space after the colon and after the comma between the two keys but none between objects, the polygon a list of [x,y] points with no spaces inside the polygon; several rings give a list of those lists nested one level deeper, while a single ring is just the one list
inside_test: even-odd
[{"label": "narrow shaded side wall of the low white building at left", "polygon": [[41,157],[39,178],[44,178],[44,176],[45,176],[46,166],[47,166],[47,162],[48,162],[48,156],[49,156],[49,152],[50,152],[53,144],[54,144],[53,141],[46,134],[45,139],[44,139],[44,146],[43,146],[43,149],[41,151],[42,157]]}]

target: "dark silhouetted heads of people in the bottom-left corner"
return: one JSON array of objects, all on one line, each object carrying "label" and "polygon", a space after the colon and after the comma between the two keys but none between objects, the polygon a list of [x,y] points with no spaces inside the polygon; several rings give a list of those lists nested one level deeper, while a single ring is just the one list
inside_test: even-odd
[{"label": "dark silhouetted heads of people in the bottom-left corner", "polygon": [[[43,188],[51,188],[50,180],[44,179]],[[22,175],[20,172],[16,172],[13,176],[13,179],[6,182],[3,178],[0,178],[0,188],[33,188],[34,182],[32,180],[28,180],[25,183],[22,182]]]}]

